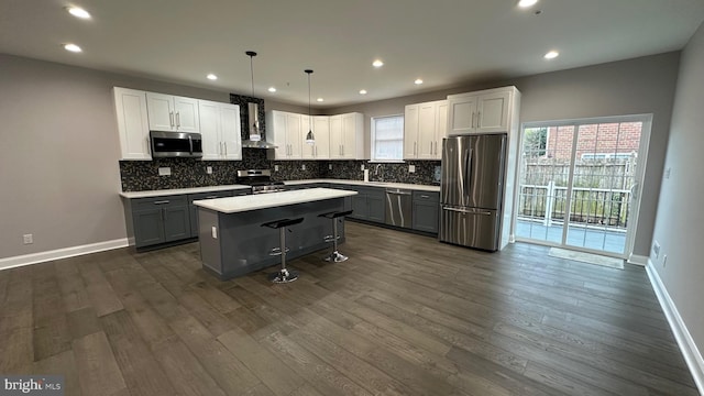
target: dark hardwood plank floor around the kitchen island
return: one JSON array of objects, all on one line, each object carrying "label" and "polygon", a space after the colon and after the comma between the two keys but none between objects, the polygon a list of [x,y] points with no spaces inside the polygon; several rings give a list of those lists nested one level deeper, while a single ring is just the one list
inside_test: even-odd
[{"label": "dark hardwood plank floor around the kitchen island", "polygon": [[1,271],[0,373],[70,396],[698,395],[641,267],[346,235],[348,262],[295,260],[288,285],[219,282],[197,243]]}]

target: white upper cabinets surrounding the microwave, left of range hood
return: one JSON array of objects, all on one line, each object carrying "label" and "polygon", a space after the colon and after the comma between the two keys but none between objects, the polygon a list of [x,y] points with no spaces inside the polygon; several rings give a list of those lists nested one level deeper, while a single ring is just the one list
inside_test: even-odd
[{"label": "white upper cabinets surrounding the microwave, left of range hood", "polygon": [[152,160],[150,131],[199,132],[204,160],[242,160],[240,107],[113,88],[121,160]]}]

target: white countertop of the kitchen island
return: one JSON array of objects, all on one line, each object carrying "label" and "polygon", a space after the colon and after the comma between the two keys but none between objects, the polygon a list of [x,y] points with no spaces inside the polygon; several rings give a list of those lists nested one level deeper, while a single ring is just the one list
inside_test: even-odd
[{"label": "white countertop of the kitchen island", "polygon": [[346,191],[332,188],[307,188],[293,191],[197,200],[194,201],[194,205],[221,213],[237,213],[256,209],[277,208],[286,205],[304,204],[316,200],[343,198],[353,195],[356,195],[356,191]]}]

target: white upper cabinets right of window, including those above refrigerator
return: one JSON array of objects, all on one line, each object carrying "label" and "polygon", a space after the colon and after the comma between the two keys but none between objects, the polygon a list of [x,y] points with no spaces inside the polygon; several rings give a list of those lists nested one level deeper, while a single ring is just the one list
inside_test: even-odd
[{"label": "white upper cabinets right of window, including those above refrigerator", "polygon": [[441,160],[446,136],[499,132],[510,135],[518,121],[519,97],[516,87],[504,87],[406,106],[404,160]]}]

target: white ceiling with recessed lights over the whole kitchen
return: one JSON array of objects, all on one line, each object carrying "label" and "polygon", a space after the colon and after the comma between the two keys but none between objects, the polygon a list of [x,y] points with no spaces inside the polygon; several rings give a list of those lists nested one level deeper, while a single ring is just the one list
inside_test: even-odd
[{"label": "white ceiling with recessed lights over the whole kitchen", "polygon": [[[312,68],[314,107],[337,107],[681,50],[704,20],[702,0],[516,3],[0,0],[0,53],[249,95],[253,50],[255,96],[307,105]],[[68,42],[84,52],[66,52]],[[560,57],[543,59],[553,48]],[[385,66],[374,69],[375,58]]]}]

